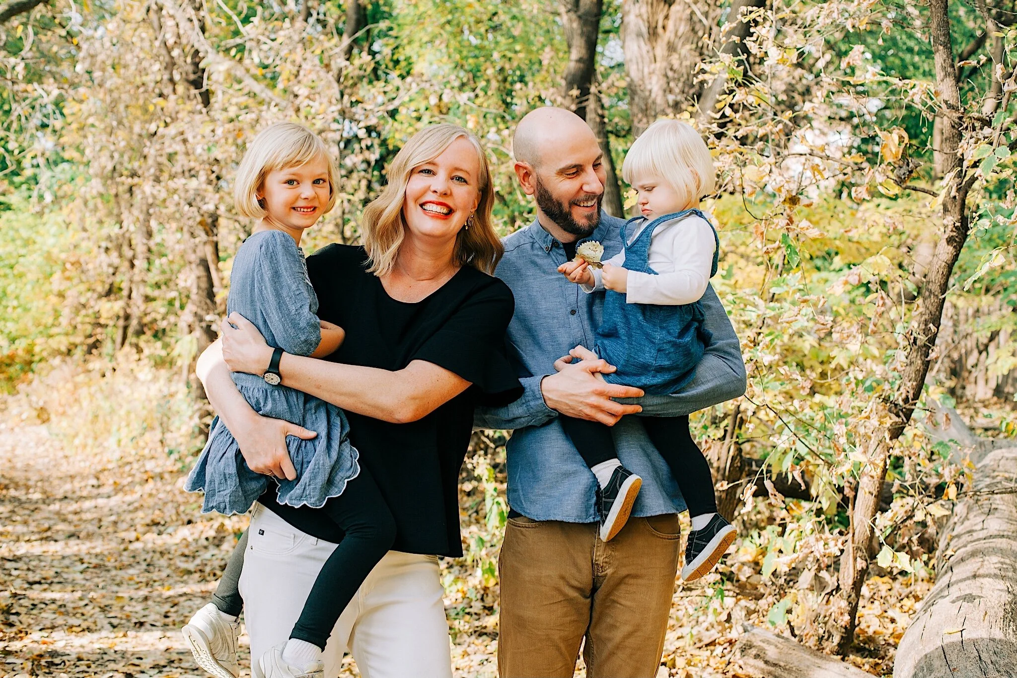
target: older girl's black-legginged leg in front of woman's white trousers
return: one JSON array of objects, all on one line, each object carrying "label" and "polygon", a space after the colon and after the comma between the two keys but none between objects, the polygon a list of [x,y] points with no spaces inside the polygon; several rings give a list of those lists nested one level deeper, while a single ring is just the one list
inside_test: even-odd
[{"label": "older girl's black-legginged leg in front of woman's white trousers", "polygon": [[290,637],[323,650],[340,614],[396,540],[396,520],[363,466],[321,510],[346,536],[321,566]]}]

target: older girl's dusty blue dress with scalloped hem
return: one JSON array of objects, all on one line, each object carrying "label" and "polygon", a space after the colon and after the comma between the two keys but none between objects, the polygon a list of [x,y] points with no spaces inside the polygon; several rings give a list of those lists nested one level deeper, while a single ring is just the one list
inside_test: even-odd
[{"label": "older girl's dusty blue dress with scalloped hem", "polygon": [[[282,231],[261,231],[244,241],[233,259],[230,313],[253,322],[268,346],[309,356],[321,341],[317,308],[303,251],[293,238]],[[298,424],[316,431],[317,437],[287,436],[297,479],[278,480],[247,467],[233,434],[216,417],[184,486],[188,492],[204,491],[201,512],[243,513],[273,480],[279,486],[279,502],[290,506],[320,508],[326,499],[342,494],[360,473],[343,411],[302,391],[270,385],[258,375],[234,372],[233,382],[259,415]]]}]

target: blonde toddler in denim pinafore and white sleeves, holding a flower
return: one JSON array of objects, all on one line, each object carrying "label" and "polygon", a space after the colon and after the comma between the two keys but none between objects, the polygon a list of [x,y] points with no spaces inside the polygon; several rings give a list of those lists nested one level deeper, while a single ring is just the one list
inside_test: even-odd
[{"label": "blonde toddler in denim pinafore and white sleeves, holding a flower", "polygon": [[[638,191],[642,212],[622,228],[622,251],[601,268],[599,244],[581,243],[577,252],[585,258],[558,270],[586,292],[605,294],[596,350],[617,371],[604,378],[673,393],[692,379],[710,338],[698,302],[717,272],[720,241],[699,201],[714,190],[713,160],[695,129],[663,119],[633,143],[622,176]],[[621,466],[609,427],[559,419],[597,477],[600,537],[610,540],[624,527],[642,479]],[[689,417],[642,421],[689,506],[693,530],[681,576],[697,579],[734,541],[734,528],[717,512],[710,466],[690,434]]]}]

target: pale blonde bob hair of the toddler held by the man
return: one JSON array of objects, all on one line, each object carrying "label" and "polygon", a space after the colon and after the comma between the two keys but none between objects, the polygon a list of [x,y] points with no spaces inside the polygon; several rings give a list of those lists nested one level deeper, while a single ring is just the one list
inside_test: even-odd
[{"label": "pale blonde bob hair of the toddler held by the man", "polygon": [[621,178],[630,186],[652,177],[671,185],[683,209],[713,193],[717,184],[717,171],[703,137],[692,125],[667,118],[646,128],[621,166]]}]

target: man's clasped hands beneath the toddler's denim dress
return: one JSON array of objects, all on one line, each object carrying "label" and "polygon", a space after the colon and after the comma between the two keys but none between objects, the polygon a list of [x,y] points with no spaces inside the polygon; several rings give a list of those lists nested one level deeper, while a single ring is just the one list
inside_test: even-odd
[{"label": "man's clasped hands beneath the toddler's denim dress", "polygon": [[[592,359],[574,363],[576,355],[592,356]],[[551,374],[540,382],[544,403],[558,413],[614,426],[624,415],[635,415],[643,408],[638,405],[621,405],[612,397],[641,397],[643,391],[632,386],[609,384],[597,377],[600,373],[614,371],[613,365],[600,360],[583,347],[576,347],[569,356],[554,362],[557,374]]]}]

